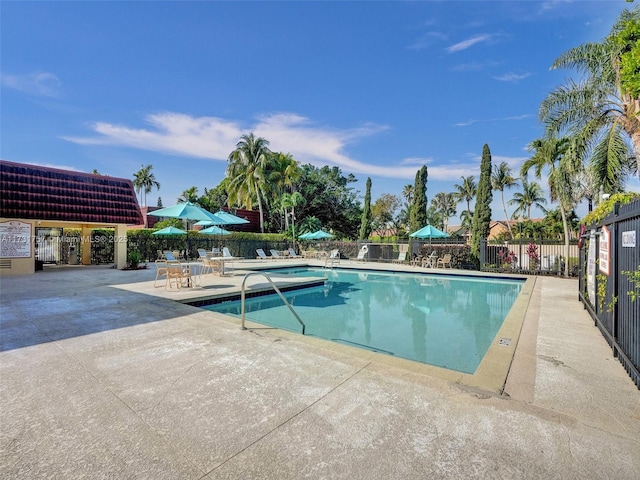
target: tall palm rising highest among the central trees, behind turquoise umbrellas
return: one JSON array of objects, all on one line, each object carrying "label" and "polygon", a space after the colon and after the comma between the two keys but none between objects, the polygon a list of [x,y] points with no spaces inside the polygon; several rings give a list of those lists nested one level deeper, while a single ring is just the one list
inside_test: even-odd
[{"label": "tall palm rising highest among the central trees, behind turquoise umbrellas", "polygon": [[251,209],[258,203],[260,231],[264,233],[263,200],[268,188],[267,166],[271,151],[269,142],[256,137],[253,132],[242,135],[236,149],[229,154],[227,177],[229,177],[229,202],[237,202]]}]

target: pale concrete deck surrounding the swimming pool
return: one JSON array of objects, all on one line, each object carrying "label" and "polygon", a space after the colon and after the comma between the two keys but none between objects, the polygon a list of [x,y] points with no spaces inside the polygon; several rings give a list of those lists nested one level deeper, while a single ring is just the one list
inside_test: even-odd
[{"label": "pale concrete deck surrounding the swimming pool", "polygon": [[254,264],[0,278],[0,477],[637,478],[640,391],[575,280],[535,279],[498,395],[175,301]]}]

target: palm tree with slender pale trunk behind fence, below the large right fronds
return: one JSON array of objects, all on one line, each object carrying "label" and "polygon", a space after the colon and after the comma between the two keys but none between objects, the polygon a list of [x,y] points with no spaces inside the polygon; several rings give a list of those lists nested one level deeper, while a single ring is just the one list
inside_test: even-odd
[{"label": "palm tree with slender pale trunk behind fence, below the large right fronds", "polygon": [[[569,225],[567,213],[574,206],[575,173],[572,165],[575,160],[575,149],[568,138],[543,138],[531,142],[528,146],[533,156],[522,164],[520,173],[525,176],[535,169],[536,178],[540,178],[542,170],[549,170],[549,195],[551,201],[558,202],[564,228],[565,258],[569,258]],[[569,275],[569,262],[565,262],[565,275]]]}]

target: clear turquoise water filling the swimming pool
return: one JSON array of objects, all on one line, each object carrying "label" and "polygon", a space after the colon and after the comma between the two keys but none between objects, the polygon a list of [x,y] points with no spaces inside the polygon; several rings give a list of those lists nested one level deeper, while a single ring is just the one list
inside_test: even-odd
[{"label": "clear turquoise water filling the swimming pool", "polygon": [[[327,277],[324,287],[285,292],[305,334],[418,362],[474,373],[524,282],[320,268],[273,275]],[[208,310],[240,316],[240,301]],[[247,320],[300,332],[277,295],[248,298]]]}]

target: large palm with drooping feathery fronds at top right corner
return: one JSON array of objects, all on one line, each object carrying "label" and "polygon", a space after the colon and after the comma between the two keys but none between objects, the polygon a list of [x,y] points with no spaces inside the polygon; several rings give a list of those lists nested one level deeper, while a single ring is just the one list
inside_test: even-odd
[{"label": "large palm with drooping feathery fronds at top right corner", "polygon": [[[638,102],[621,82],[621,56],[637,42],[621,42],[621,32],[640,22],[640,9],[625,10],[601,43],[587,43],[562,54],[551,68],[575,68],[581,80],[569,80],[552,91],[540,105],[539,116],[549,136],[568,134],[585,149],[592,149],[591,165],[605,191],[614,189],[630,170],[635,151],[640,174],[640,116]],[[637,75],[637,74],[636,74]],[[579,156],[584,152],[578,151]]]}]

